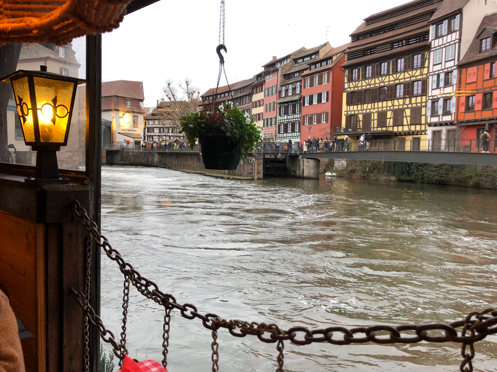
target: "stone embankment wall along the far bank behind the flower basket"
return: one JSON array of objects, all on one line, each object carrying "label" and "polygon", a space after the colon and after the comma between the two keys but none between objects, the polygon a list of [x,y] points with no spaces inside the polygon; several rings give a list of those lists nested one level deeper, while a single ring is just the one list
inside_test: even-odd
[{"label": "stone embankment wall along the far bank behind the flower basket", "polygon": [[253,163],[244,161],[236,170],[205,169],[202,157],[198,152],[166,152],[166,151],[121,151],[106,150],[105,163],[108,165],[141,165],[155,166],[175,170],[219,174],[242,178],[262,178],[262,162],[255,157]]}]

